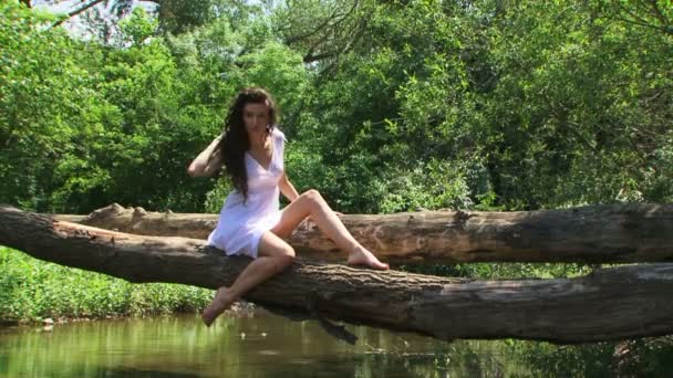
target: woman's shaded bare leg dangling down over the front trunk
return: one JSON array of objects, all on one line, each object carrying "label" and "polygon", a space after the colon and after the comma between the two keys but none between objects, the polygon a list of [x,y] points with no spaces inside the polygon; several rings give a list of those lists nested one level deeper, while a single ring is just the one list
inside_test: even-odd
[{"label": "woman's shaded bare leg dangling down over the front trunk", "polygon": [[259,241],[258,256],[236,277],[231,286],[221,286],[213,302],[204,309],[201,318],[207,326],[234,302],[255,286],[286,270],[294,259],[294,250],[272,232],[265,232]]}]

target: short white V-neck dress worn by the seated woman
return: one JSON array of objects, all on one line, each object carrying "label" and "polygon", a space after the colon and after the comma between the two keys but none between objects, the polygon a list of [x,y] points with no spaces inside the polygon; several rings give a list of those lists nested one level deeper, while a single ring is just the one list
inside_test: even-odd
[{"label": "short white V-neck dress worn by the seated woman", "polygon": [[280,220],[278,181],[283,171],[286,136],[277,127],[271,132],[273,153],[269,169],[246,151],[244,162],[248,174],[248,200],[234,189],[219,212],[217,227],[208,235],[208,244],[224,250],[227,255],[245,254],[257,259],[261,235]]}]

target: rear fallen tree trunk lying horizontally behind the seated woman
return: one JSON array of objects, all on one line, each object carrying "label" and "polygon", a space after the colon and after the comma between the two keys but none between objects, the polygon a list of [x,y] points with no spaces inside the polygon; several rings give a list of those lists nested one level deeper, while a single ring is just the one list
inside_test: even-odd
[{"label": "rear fallen tree trunk lying horizontally behind the seated woman", "polygon": [[[97,228],[146,235],[206,239],[216,214],[176,214],[124,209],[90,216],[54,216]],[[393,263],[577,262],[673,260],[673,206],[618,204],[520,212],[424,211],[343,216],[345,227],[376,256]],[[343,260],[313,222],[288,242],[301,256]]]}]

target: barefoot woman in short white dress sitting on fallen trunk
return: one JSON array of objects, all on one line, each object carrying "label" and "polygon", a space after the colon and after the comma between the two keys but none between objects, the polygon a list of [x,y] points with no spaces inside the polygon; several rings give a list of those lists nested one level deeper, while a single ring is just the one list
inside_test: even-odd
[{"label": "barefoot woman in short white dress sitting on fallen trunk", "polygon": [[[317,190],[301,196],[283,169],[284,135],[276,128],[276,104],[261,88],[246,88],[234,99],[225,132],[189,165],[190,176],[210,176],[225,168],[235,189],[227,196],[217,228],[208,243],[227,255],[245,254],[253,261],[231,286],[217,290],[201,317],[207,326],[234,302],[265,280],[282,272],[294,259],[290,237],[307,217],[349,255],[352,265],[386,270],[343,227]],[[290,204],[279,210],[279,195]]]}]

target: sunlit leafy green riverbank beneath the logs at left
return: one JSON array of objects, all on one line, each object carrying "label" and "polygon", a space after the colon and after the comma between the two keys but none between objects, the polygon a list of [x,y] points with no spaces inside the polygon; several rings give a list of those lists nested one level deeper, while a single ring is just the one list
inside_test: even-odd
[{"label": "sunlit leafy green riverbank beneath the logs at left", "polygon": [[76,322],[196,313],[213,291],[166,283],[133,284],[35,260],[0,246],[0,324]]}]

